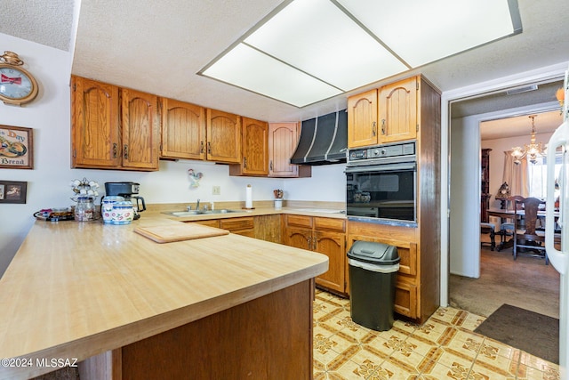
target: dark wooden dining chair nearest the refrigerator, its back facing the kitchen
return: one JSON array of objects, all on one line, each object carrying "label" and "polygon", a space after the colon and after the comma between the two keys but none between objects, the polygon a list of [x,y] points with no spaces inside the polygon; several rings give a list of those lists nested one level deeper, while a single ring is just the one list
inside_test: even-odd
[{"label": "dark wooden dining chair nearest the refrigerator, its back facing the kitchen", "polygon": [[[536,229],[537,213],[540,205],[545,205],[545,201],[532,197],[518,198],[514,200],[514,204],[514,260],[520,254],[532,255],[545,258],[545,264],[548,265],[549,259],[545,251],[545,230]],[[521,208],[524,211],[523,220],[518,219],[518,216],[522,216]]]}]

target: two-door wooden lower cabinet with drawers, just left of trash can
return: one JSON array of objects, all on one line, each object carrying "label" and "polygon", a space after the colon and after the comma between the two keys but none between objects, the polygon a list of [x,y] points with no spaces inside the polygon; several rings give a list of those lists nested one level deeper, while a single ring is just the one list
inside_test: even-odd
[{"label": "two-door wooden lower cabinet with drawers, just left of trash can", "polygon": [[335,293],[346,288],[346,221],[306,215],[284,215],[284,244],[328,256],[328,271],[317,277],[319,287]]}]

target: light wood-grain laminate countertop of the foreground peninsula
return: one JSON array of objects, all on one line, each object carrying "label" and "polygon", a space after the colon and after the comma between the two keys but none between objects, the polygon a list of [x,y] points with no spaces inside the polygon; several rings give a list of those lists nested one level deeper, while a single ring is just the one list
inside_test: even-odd
[{"label": "light wood-grain laminate countertop of the foreground peninsula", "polygon": [[34,224],[0,279],[0,378],[50,372],[38,363],[81,361],[328,269],[325,255],[235,234],[158,244],[133,231],[179,223],[159,214]]}]

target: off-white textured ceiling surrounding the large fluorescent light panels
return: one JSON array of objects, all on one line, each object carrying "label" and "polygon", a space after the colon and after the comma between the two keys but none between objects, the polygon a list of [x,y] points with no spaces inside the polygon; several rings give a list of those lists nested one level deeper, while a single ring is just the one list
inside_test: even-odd
[{"label": "off-white textured ceiling surrounding the large fluorescent light panels", "polygon": [[[196,75],[279,6],[281,0],[83,0],[72,70],[79,76],[246,117],[296,121],[343,109],[349,94],[411,74],[422,73],[440,90],[448,91],[569,61],[569,28],[564,27],[569,1],[517,1],[523,27],[521,34],[303,109]],[[0,32],[68,51],[75,3],[73,0],[2,0]],[[413,22],[422,22],[429,28],[429,20]],[[484,20],[481,22],[484,25]],[[341,46],[338,51],[341,53]],[[555,101],[554,93],[547,86],[543,87],[527,93],[526,99],[500,94],[465,101],[461,108],[457,103],[453,112],[471,115],[492,111],[498,104],[508,109],[527,102]]]}]

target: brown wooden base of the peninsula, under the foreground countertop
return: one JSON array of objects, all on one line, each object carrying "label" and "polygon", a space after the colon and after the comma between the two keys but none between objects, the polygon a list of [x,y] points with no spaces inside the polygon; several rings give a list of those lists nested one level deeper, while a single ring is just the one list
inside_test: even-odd
[{"label": "brown wooden base of the peninsula, under the foreground countertop", "polygon": [[311,379],[309,279],[79,363],[82,379]]}]

